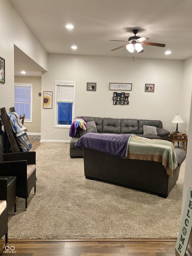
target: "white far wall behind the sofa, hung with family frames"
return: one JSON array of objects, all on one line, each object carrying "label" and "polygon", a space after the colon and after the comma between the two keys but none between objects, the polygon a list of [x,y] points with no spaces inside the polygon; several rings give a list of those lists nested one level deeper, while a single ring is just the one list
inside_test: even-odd
[{"label": "white far wall behind the sofa, hung with family frames", "polygon": [[[53,107],[42,108],[41,140],[70,140],[68,128],[54,128],[55,80],[76,82],[75,117],[156,119],[175,130],[171,121],[176,113],[183,116],[183,65],[179,60],[48,54],[51,72],[42,75],[42,92],[53,91]],[[97,83],[96,92],[86,91],[87,82]],[[129,105],[113,105],[109,83],[133,84]],[[154,83],[155,92],[145,92],[145,83]]]}]

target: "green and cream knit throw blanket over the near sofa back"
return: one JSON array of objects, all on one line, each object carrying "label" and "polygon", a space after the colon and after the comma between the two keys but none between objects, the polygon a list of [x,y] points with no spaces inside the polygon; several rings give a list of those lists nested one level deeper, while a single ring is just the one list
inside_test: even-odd
[{"label": "green and cream knit throw blanket over the near sofa back", "polygon": [[171,176],[177,167],[175,148],[167,140],[150,140],[132,135],[127,158],[162,162],[167,174],[171,174]]}]

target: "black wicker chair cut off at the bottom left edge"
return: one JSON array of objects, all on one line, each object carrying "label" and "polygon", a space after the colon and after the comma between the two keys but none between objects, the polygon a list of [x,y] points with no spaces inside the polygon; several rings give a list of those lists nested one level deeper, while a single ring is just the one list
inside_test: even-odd
[{"label": "black wicker chair cut off at the bottom left edge", "polygon": [[7,202],[6,202],[6,191],[7,191],[7,179],[0,180],[0,239],[5,235],[5,246],[8,243],[8,220],[7,220]]}]

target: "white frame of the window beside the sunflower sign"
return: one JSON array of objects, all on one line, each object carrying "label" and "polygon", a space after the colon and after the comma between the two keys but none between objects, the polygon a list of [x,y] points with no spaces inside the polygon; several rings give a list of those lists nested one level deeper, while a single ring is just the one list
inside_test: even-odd
[{"label": "white frame of the window beside the sunflower sign", "polygon": [[55,128],[70,128],[71,125],[58,125],[58,102],[57,102],[57,86],[73,84],[73,103],[72,103],[72,122],[75,115],[75,82],[71,81],[55,81]]}]

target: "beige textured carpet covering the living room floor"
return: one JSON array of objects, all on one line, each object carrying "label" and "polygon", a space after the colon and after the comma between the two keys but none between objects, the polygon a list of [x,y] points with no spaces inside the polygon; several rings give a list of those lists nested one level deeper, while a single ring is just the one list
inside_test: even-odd
[{"label": "beige textured carpet covering the living room floor", "polygon": [[175,239],[180,226],[184,163],[167,197],[85,179],[83,159],[69,144],[41,143],[37,195],[17,198],[9,215],[9,239]]}]

